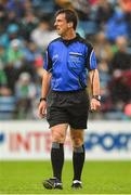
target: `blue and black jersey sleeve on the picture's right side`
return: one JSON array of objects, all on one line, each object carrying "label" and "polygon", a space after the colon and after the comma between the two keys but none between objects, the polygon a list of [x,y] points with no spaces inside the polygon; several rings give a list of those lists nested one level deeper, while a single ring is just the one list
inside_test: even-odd
[{"label": "blue and black jersey sleeve on the picture's right side", "polygon": [[88,44],[87,68],[89,70],[97,68],[95,52],[91,44]]}]

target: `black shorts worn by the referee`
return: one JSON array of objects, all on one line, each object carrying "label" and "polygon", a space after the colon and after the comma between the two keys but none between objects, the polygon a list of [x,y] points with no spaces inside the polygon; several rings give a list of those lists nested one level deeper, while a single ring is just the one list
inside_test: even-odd
[{"label": "black shorts worn by the referee", "polygon": [[87,129],[89,98],[86,90],[51,91],[48,98],[47,120],[50,128],[68,123],[74,129]]}]

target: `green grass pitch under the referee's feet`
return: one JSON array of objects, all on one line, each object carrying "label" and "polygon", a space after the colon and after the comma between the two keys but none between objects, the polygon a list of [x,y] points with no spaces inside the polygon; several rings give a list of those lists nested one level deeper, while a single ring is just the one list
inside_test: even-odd
[{"label": "green grass pitch under the referee's feet", "polygon": [[131,161],[86,161],[83,188],[73,191],[71,162],[63,170],[63,191],[44,190],[42,180],[51,177],[49,161],[0,161],[1,194],[130,194]]}]

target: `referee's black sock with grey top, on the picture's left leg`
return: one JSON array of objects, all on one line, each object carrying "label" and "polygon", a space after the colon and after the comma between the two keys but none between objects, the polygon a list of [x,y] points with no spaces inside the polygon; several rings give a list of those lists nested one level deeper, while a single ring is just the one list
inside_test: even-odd
[{"label": "referee's black sock with grey top, on the picture's left leg", "polygon": [[63,144],[52,143],[51,162],[52,162],[53,176],[61,180],[62,179],[62,169],[63,169],[63,165],[64,165]]}]

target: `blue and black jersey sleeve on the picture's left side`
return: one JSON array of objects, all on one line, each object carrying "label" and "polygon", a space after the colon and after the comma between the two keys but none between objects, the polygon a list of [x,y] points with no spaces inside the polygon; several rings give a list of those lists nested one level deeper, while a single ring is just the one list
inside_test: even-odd
[{"label": "blue and black jersey sleeve on the picture's left side", "polygon": [[43,69],[45,69],[47,72],[50,72],[50,73],[52,72],[52,60],[50,56],[49,48],[47,49],[45,54],[44,54]]}]

